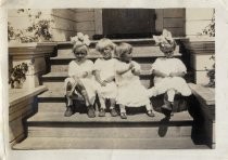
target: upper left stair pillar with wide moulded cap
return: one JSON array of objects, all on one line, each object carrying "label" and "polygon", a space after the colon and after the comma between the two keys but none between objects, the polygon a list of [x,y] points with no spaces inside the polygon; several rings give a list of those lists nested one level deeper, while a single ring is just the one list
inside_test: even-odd
[{"label": "upper left stair pillar with wide moulded cap", "polygon": [[53,53],[55,45],[53,42],[9,44],[9,57],[11,61],[9,65],[12,67],[22,63],[28,65],[23,88],[30,89],[39,85],[39,76],[45,74],[48,67],[46,58]]}]

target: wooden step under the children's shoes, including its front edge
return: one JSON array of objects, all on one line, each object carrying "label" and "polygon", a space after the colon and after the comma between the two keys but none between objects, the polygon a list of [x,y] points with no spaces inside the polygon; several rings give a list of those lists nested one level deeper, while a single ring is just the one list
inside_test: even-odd
[{"label": "wooden step under the children's shoes, including its front edge", "polygon": [[134,123],[140,124],[163,124],[163,123],[190,123],[192,124],[193,118],[189,115],[188,111],[176,112],[170,119],[166,119],[165,116],[161,112],[154,111],[155,117],[148,117],[147,114],[137,114],[137,115],[128,115],[127,119],[121,119],[119,116],[111,117],[110,114],[106,114],[105,117],[98,117],[98,111],[96,111],[97,117],[88,118],[87,114],[78,114],[71,117],[64,117],[64,112],[37,112],[33,117],[27,119],[27,124],[37,124],[43,126],[47,124],[114,124],[114,123]]}]

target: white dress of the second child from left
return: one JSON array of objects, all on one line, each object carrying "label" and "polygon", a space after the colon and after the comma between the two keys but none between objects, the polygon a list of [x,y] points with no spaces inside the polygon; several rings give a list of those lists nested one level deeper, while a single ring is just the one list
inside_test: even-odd
[{"label": "white dress of the second child from left", "polygon": [[[94,63],[94,70],[100,71],[101,81],[106,80],[110,77],[115,77],[115,58],[103,59],[98,58]],[[97,82],[98,94],[104,98],[116,98],[117,88],[114,81],[106,83],[105,86],[102,86]]]}]

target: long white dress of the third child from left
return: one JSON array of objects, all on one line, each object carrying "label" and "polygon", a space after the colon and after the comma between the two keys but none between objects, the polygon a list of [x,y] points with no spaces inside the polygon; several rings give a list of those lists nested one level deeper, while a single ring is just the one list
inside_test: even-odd
[{"label": "long white dress of the third child from left", "polygon": [[[140,65],[132,62],[136,70],[140,70]],[[129,64],[124,62],[116,63],[116,70],[128,68]],[[147,89],[141,84],[138,76],[131,70],[118,75],[116,74],[117,97],[116,103],[128,107],[141,107],[150,104]]]}]

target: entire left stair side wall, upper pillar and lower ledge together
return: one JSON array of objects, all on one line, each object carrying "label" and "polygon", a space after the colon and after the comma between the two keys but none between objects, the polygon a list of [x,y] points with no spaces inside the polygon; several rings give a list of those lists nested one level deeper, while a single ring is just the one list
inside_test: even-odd
[{"label": "entire left stair side wall, upper pillar and lower ledge together", "polygon": [[28,64],[26,81],[22,89],[9,89],[9,142],[11,145],[26,136],[24,120],[36,111],[36,97],[47,90],[39,85],[39,76],[47,72],[47,59],[54,52],[55,43],[9,44],[9,68]]}]

